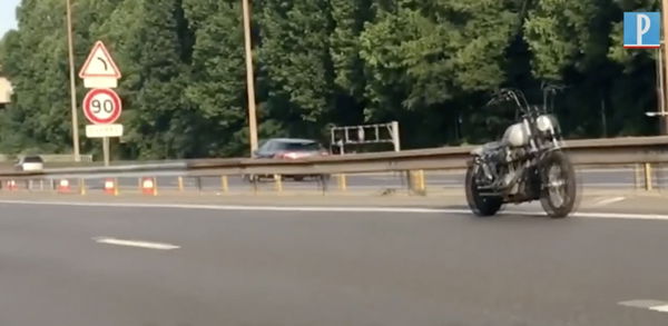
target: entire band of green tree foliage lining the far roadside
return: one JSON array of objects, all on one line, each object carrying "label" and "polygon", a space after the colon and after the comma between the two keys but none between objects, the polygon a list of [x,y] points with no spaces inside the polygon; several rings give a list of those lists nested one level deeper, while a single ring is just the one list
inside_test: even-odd
[{"label": "entire band of green tree foliage lining the far roadside", "polygon": [[[124,73],[119,157],[247,154],[239,0],[73,3],[77,67],[102,40]],[[642,113],[657,105],[657,53],[621,47],[623,11],[657,10],[657,0],[253,4],[263,138],[326,140],[332,125],[399,120],[404,148],[483,141],[509,121],[483,107],[489,93],[510,86],[540,100],[542,80],[568,87],[556,113],[569,137],[657,131]],[[0,73],[14,86],[0,112],[2,152],[71,151],[65,12],[65,1],[23,0],[18,30],[0,41]],[[77,81],[79,101],[86,91]]]}]

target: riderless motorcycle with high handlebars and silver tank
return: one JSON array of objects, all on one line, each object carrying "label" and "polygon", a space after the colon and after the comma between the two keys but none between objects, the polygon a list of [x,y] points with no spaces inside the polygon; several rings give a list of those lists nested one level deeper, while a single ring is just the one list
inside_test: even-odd
[{"label": "riderless motorcycle with high handlebars and silver tank", "polygon": [[[517,124],[499,141],[471,151],[465,192],[477,216],[495,215],[505,204],[540,200],[552,218],[567,217],[576,206],[576,172],[557,117],[548,111],[558,87],[543,87],[543,105],[530,106],[519,90],[502,89],[488,106],[511,102]],[[552,106],[553,108],[553,97]]]}]

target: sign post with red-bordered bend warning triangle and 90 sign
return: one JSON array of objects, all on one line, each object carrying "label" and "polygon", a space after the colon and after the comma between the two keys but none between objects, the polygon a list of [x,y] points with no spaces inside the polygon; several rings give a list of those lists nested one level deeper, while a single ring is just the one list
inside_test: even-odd
[{"label": "sign post with red-bordered bend warning triangle and 90 sign", "polygon": [[107,47],[98,41],[92,47],[79,72],[84,86],[91,88],[84,99],[84,113],[92,125],[86,126],[86,137],[102,138],[105,166],[109,166],[109,137],[122,136],[122,125],[114,125],[120,117],[122,103],[112,88],[118,87],[120,70]]}]

